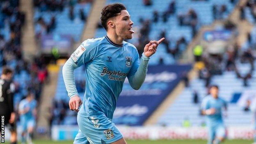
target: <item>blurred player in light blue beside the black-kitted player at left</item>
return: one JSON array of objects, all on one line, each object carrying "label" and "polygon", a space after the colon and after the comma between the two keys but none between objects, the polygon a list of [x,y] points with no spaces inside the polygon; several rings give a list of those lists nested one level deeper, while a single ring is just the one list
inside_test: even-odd
[{"label": "blurred player in light blue beside the black-kitted player at left", "polygon": [[[28,144],[32,144],[32,133],[35,126],[37,101],[34,99],[34,94],[28,92],[25,99],[20,102],[19,114],[22,126],[21,142],[25,144],[26,137]],[[27,134],[27,135],[26,135]]]}]

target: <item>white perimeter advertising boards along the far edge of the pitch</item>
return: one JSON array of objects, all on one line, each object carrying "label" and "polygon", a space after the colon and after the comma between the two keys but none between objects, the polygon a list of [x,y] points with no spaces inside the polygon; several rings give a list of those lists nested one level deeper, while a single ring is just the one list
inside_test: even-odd
[{"label": "white perimeter advertising boards along the far edge of the pitch", "polygon": [[[125,139],[207,139],[206,127],[117,126]],[[78,126],[53,126],[53,140],[74,139]],[[227,139],[253,139],[253,126],[226,128]]]}]

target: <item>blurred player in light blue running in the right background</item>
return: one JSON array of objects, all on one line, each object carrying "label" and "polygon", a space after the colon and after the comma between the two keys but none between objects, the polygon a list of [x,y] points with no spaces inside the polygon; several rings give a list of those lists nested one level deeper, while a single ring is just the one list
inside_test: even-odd
[{"label": "blurred player in light blue running in the right background", "polygon": [[222,108],[227,110],[226,101],[219,98],[219,87],[213,85],[210,87],[210,95],[202,101],[202,114],[206,115],[206,124],[208,126],[208,144],[219,144],[226,137],[226,129],[222,119]]}]

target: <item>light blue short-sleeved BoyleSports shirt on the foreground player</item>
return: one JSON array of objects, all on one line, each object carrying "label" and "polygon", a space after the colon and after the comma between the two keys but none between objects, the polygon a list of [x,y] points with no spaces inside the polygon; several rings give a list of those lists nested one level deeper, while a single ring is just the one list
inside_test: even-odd
[{"label": "light blue short-sleeved BoyleSports shirt on the foreground player", "polygon": [[103,112],[112,119],[126,76],[134,75],[139,67],[135,46],[116,45],[107,36],[87,39],[71,58],[78,66],[85,65],[85,96],[78,114],[92,117]]}]

